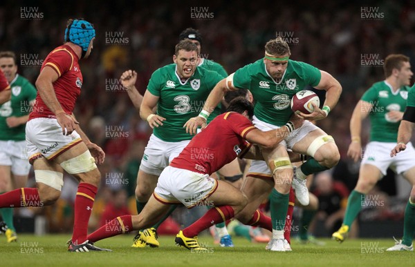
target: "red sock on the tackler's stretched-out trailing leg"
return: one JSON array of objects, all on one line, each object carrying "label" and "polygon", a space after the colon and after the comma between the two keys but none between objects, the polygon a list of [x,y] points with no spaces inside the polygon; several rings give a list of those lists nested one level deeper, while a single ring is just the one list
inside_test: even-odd
[{"label": "red sock on the tackler's stretched-out trailing leg", "polygon": [[96,242],[98,240],[113,237],[115,235],[120,235],[124,233],[129,233],[133,230],[133,222],[131,220],[131,215],[123,215],[116,217],[108,224],[101,226],[98,230],[91,233],[86,239],[91,242]]}]

